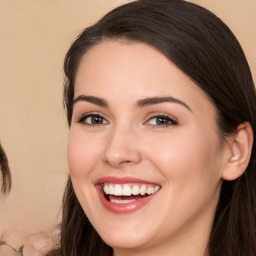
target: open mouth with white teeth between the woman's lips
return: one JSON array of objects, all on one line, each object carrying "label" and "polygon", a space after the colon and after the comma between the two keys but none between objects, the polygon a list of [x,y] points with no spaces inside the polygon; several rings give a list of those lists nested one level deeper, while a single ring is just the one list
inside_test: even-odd
[{"label": "open mouth with white teeth between the woman's lips", "polygon": [[129,204],[142,200],[153,195],[159,189],[159,185],[150,184],[102,184],[105,199],[115,204]]}]

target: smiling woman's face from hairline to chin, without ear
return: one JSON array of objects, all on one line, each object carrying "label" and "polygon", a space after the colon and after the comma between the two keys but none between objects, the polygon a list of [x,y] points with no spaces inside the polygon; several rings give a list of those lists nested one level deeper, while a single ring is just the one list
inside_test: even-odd
[{"label": "smiling woman's face from hairline to chin, without ear", "polygon": [[68,163],[82,208],[115,252],[202,246],[224,168],[215,120],[207,95],[148,45],[103,42],[83,56]]}]

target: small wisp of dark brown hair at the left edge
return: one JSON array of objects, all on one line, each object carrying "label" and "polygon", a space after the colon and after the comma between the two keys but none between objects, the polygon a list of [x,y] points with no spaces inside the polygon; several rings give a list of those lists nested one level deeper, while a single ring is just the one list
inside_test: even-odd
[{"label": "small wisp of dark brown hair at the left edge", "polygon": [[11,189],[12,177],[11,177],[11,172],[8,165],[8,159],[6,157],[6,154],[1,144],[0,144],[0,172],[2,173],[1,192],[3,194],[7,194],[8,192],[10,192],[10,189]]}]

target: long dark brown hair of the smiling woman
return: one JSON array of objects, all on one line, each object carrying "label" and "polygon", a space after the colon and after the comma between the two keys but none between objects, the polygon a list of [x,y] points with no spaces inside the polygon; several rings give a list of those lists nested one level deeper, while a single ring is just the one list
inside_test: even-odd
[{"label": "long dark brown hair of the smiling woman", "polygon": [[[243,50],[210,11],[182,0],[139,0],[109,12],[85,29],[64,63],[64,105],[70,125],[76,72],[88,49],[104,40],[149,44],[204,90],[217,110],[220,136],[248,121],[256,134],[256,95]],[[224,181],[208,243],[210,256],[256,255],[255,141],[245,173]],[[112,255],[82,210],[70,178],[63,198],[60,246],[49,255]]]}]

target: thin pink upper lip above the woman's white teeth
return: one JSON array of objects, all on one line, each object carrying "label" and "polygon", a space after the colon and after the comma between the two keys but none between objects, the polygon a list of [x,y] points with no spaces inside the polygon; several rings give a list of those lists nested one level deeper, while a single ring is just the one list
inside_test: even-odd
[{"label": "thin pink upper lip above the woman's white teeth", "polygon": [[142,180],[138,179],[135,177],[115,177],[115,176],[106,176],[98,179],[95,183],[95,185],[101,185],[104,183],[113,183],[113,184],[128,184],[128,183],[142,183],[142,184],[154,184],[154,185],[159,185],[155,182],[147,181],[147,180]]}]

